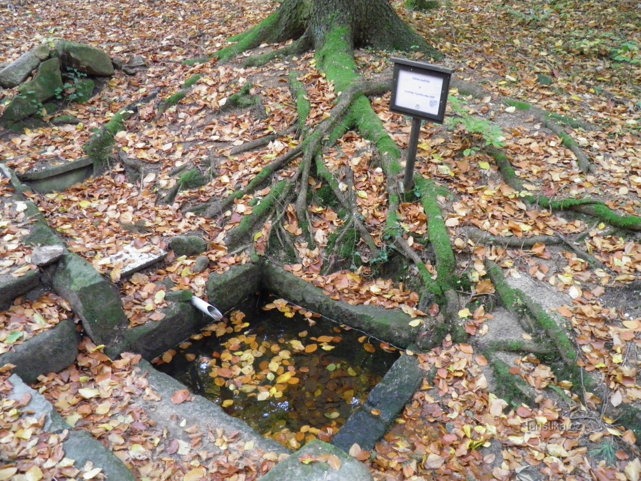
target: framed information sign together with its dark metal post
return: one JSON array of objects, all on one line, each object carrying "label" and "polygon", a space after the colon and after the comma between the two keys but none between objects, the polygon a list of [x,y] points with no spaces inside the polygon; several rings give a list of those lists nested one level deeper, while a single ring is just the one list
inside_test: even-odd
[{"label": "framed information sign together with its dark metal post", "polygon": [[404,58],[392,58],[392,62],[394,78],[390,111],[412,117],[403,178],[403,190],[409,192],[412,189],[420,124],[423,120],[443,123],[449,80],[454,69]]}]

